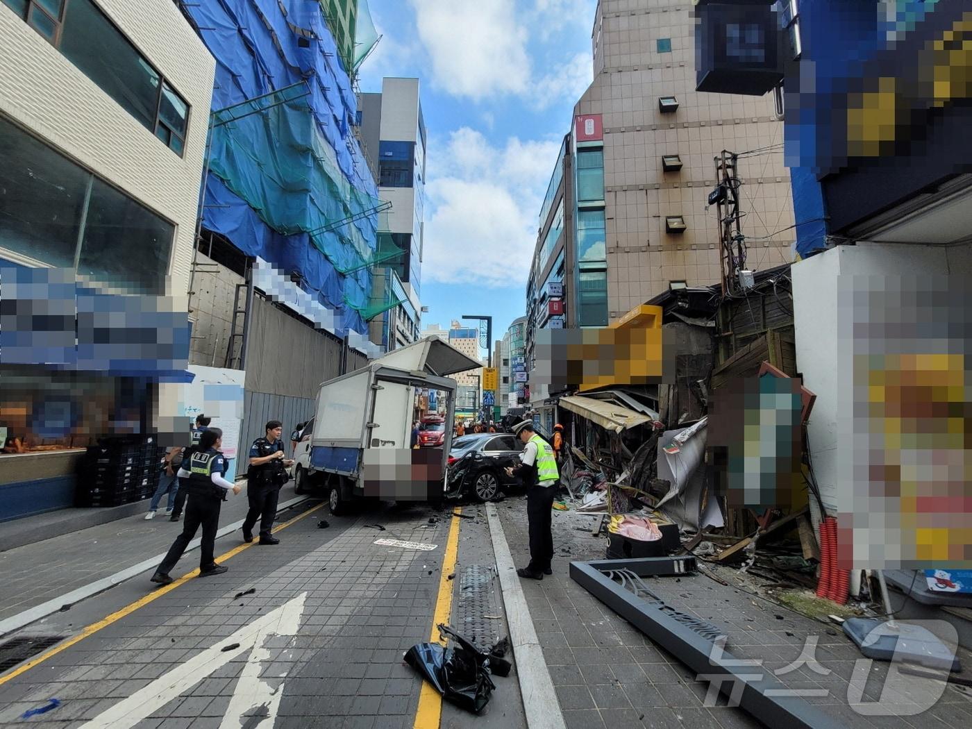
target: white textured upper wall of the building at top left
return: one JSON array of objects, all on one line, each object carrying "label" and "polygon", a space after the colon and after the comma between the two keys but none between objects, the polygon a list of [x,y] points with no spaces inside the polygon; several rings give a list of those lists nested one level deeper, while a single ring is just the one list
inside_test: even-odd
[{"label": "white textured upper wall of the building at top left", "polygon": [[189,289],[216,62],[171,0],[97,0],[189,102],[179,156],[0,3],[0,114],[176,225],[169,294]]}]

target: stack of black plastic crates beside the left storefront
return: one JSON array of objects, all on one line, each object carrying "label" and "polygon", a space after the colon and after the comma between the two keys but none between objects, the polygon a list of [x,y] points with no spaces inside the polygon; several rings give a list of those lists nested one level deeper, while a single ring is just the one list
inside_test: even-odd
[{"label": "stack of black plastic crates beside the left storefront", "polygon": [[106,437],[87,449],[87,472],[78,483],[79,506],[120,506],[152,496],[160,451],[155,435]]}]

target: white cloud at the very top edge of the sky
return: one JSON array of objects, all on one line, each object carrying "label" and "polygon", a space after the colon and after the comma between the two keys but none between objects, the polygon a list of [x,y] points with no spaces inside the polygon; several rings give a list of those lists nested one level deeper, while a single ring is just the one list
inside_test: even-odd
[{"label": "white cloud at the very top edge of the sky", "polygon": [[435,83],[474,101],[529,86],[527,30],[513,0],[411,0]]}]

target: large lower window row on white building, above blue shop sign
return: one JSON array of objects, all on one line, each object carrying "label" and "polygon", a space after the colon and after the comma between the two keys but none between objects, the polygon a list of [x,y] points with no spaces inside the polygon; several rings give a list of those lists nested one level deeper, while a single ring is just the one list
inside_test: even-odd
[{"label": "large lower window row on white building, above blue shop sign", "polygon": [[175,226],[3,118],[0,159],[0,249],[165,293]]}]

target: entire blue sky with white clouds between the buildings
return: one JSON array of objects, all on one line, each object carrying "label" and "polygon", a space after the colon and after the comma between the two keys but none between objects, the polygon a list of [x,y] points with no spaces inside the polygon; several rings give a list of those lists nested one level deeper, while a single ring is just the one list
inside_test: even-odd
[{"label": "entire blue sky with white clouds between the buildings", "polygon": [[417,77],[428,131],[423,327],[522,316],[540,205],[591,81],[596,0],[369,0],[363,91]]}]

